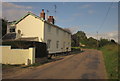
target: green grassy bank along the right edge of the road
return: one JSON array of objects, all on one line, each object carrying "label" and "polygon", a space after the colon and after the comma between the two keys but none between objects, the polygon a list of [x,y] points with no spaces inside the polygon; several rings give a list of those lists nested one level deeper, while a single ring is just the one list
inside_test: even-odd
[{"label": "green grassy bank along the right edge of the road", "polygon": [[100,50],[103,52],[108,78],[118,79],[118,46],[106,45]]}]

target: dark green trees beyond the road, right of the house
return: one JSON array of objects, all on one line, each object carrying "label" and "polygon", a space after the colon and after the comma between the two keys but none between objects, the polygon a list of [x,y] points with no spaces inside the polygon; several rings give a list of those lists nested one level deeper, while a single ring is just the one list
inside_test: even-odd
[{"label": "dark green trees beyond the road, right of the house", "polygon": [[90,48],[97,48],[102,47],[107,44],[117,44],[113,39],[103,39],[97,40],[93,37],[87,38],[85,32],[78,31],[77,33],[72,35],[72,47],[80,47],[82,45],[85,45],[85,47]]}]

